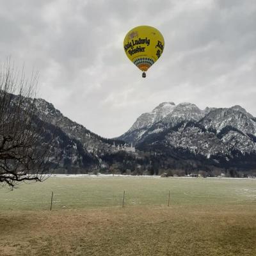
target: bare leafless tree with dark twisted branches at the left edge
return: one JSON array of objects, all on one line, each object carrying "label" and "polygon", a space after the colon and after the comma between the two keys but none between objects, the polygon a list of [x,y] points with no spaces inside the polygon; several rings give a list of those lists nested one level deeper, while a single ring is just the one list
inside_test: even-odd
[{"label": "bare leafless tree with dark twisted branches at the left edge", "polygon": [[12,188],[19,182],[47,177],[51,141],[41,140],[44,122],[36,116],[36,85],[36,74],[28,80],[10,61],[1,66],[0,184]]}]

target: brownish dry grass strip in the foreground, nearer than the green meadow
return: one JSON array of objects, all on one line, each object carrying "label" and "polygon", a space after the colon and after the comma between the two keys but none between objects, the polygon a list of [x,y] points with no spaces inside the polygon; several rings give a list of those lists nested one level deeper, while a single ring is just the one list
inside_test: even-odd
[{"label": "brownish dry grass strip in the foreground, nearer than the green meadow", "polygon": [[0,214],[1,255],[256,255],[256,207],[134,206]]}]

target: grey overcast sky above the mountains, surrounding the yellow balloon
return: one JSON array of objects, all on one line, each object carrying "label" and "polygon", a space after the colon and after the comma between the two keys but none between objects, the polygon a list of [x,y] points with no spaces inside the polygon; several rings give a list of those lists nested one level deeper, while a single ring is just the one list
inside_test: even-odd
[{"label": "grey overcast sky above the mountains, surrounding the yellow balloon", "polygon": [[[164,36],[147,78],[125,56],[126,33]],[[243,106],[256,116],[255,0],[0,0],[0,61],[40,73],[38,97],[113,138],[164,101]]]}]

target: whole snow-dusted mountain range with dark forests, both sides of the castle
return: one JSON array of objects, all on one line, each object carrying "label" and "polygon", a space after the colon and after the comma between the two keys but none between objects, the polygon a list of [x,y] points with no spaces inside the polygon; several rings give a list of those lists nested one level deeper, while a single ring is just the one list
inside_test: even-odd
[{"label": "whole snow-dusted mountain range with dark forests, both sides of the castle", "polygon": [[[44,99],[36,99],[35,106],[35,125],[44,131],[40,143],[52,141],[49,164],[58,166],[58,172],[200,169],[212,175],[217,168],[234,177],[256,173],[256,118],[241,106],[200,109],[191,103],[163,102],[115,140],[73,122]],[[134,143],[136,152],[125,150],[124,141]]]}]

